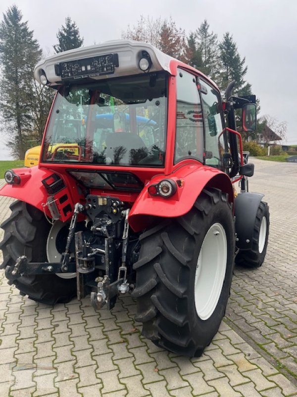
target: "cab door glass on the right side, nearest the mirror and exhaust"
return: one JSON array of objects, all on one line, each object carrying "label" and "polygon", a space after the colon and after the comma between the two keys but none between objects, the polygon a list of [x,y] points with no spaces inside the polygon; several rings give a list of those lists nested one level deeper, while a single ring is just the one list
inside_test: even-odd
[{"label": "cab door glass on the right side, nearest the mirror and exhaust", "polygon": [[205,128],[205,164],[223,169],[226,139],[223,134],[222,102],[213,87],[201,81],[201,103]]}]

